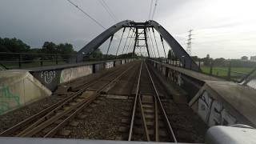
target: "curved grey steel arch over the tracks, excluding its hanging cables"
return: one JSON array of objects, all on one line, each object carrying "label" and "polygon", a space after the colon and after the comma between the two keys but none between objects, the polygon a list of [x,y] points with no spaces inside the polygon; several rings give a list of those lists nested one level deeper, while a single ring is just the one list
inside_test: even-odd
[{"label": "curved grey steel arch over the tracks, excluding its hanging cables", "polygon": [[118,30],[122,29],[122,27],[134,27],[134,28],[147,28],[154,27],[155,30],[158,31],[159,34],[162,35],[162,38],[168,43],[171,49],[174,51],[174,54],[180,59],[182,64],[191,70],[199,71],[199,66],[190,58],[190,55],[186,53],[186,50],[182,48],[182,46],[175,40],[175,38],[164,29],[158,22],[153,20],[146,22],[134,22],[130,20],[118,22],[114,26],[111,26],[109,29],[99,34],[96,38],[90,41],[86,46],[84,46],[81,50],[78,51],[78,62],[82,62],[83,54],[90,54],[90,52],[98,49],[99,46],[102,45],[108,38],[110,38],[113,34],[115,34]]}]

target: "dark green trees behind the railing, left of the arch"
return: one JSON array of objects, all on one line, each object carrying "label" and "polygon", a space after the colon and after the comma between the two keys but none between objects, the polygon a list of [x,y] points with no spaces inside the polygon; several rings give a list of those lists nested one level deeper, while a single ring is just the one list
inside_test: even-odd
[{"label": "dark green trees behind the railing, left of the arch", "polygon": [[[49,54],[76,54],[76,51],[74,51],[74,48],[70,43],[55,44],[54,42],[44,42],[42,48],[30,48],[30,46],[18,38],[0,38],[0,52],[28,53],[22,54],[22,60],[53,58],[53,56]],[[70,57],[70,55],[61,56],[63,59],[68,59]],[[1,60],[17,59],[18,54],[1,54],[0,58]]]}]

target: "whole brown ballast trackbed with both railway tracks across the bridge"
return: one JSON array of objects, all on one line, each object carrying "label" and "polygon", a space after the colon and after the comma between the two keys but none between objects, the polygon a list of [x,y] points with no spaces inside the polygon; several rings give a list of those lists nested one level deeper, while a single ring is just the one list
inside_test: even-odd
[{"label": "whole brown ballast trackbed with both railway tracks across the bridge", "polygon": [[60,102],[0,136],[202,142],[188,108],[174,103],[154,68],[130,64],[65,84]]}]

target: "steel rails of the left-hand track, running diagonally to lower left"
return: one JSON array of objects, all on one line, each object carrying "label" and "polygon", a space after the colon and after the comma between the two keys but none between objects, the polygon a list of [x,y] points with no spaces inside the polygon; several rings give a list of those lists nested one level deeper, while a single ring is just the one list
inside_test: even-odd
[{"label": "steel rails of the left-hand track, running diagonally to lower left", "polygon": [[[90,102],[92,102],[95,98],[101,94],[101,91],[107,86],[111,85],[118,78],[121,78],[123,74],[125,74],[128,70],[130,70],[133,66],[129,66],[128,68],[122,67],[121,69],[114,70],[110,74],[103,75],[100,78],[97,78],[94,81],[86,82],[82,88],[82,90],[78,90],[78,92],[74,94],[70,94],[67,98],[64,98],[61,102],[50,106],[46,110],[42,110],[38,114],[31,116],[30,118],[26,118],[26,120],[19,122],[17,125],[10,127],[9,129],[3,131],[0,136],[18,136],[18,137],[31,137],[34,134],[38,134],[39,131],[46,128],[46,126],[50,126],[52,123],[58,121],[60,118],[67,116],[58,126],[54,126],[47,134],[44,134],[43,137],[51,137],[53,136],[59,128],[64,126],[66,122],[70,121],[70,119],[74,118],[79,111],[82,110],[85,106],[88,106]],[[117,75],[110,82],[107,82],[104,86],[98,89],[94,94],[90,95],[90,97],[83,98],[81,95],[86,91],[86,89],[90,86],[93,86],[97,82],[100,82],[102,79]],[[75,105],[71,105],[72,102],[76,102]],[[64,110],[64,107],[70,105],[70,108]],[[61,111],[61,112],[59,112]],[[68,115],[67,115],[68,114]]]}]

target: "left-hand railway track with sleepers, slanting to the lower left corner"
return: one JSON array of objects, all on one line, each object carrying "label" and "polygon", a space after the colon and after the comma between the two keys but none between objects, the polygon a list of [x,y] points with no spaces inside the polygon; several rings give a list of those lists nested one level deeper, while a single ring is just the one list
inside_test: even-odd
[{"label": "left-hand railway track with sleepers, slanting to the lower left corner", "polygon": [[[70,120],[76,117],[81,110],[89,106],[103,90],[117,82],[122,75],[133,68],[132,66],[121,66],[110,74],[103,75],[94,81],[86,82],[81,90],[70,94],[67,98],[42,110],[38,114],[26,118],[17,125],[3,131],[0,136],[17,137],[52,137],[62,126],[65,126]],[[97,87],[96,90],[88,90],[91,87]]]}]

